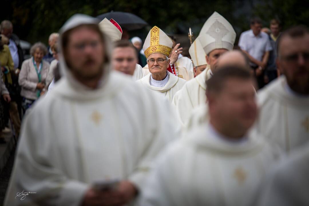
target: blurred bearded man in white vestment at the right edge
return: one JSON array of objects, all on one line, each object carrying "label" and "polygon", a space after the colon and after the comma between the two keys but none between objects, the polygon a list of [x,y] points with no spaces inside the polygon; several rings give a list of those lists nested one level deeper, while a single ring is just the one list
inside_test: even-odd
[{"label": "blurred bearded man in white vestment at the right edge", "polygon": [[258,92],[257,129],[288,153],[309,140],[309,30],[291,28],[277,41],[284,75]]}]

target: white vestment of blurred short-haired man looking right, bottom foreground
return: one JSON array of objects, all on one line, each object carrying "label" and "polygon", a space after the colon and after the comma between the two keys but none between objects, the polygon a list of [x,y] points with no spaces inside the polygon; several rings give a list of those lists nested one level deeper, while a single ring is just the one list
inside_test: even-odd
[{"label": "white vestment of blurred short-haired man looking right, bottom foreground", "polygon": [[204,124],[160,154],[140,205],[249,205],[279,155],[263,137],[232,142]]}]

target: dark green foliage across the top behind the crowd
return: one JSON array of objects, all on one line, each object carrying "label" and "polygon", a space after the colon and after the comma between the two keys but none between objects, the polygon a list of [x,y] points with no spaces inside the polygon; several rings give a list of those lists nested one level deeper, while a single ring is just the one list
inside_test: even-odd
[{"label": "dark green foliage across the top behind the crowd", "polygon": [[214,11],[233,25],[238,36],[249,29],[249,19],[253,15],[259,16],[265,27],[269,27],[270,19],[277,17],[283,29],[296,24],[308,25],[309,21],[308,0],[2,0],[1,8],[0,21],[11,20],[14,33],[21,39],[46,44],[49,34],[57,32],[75,13],[97,16],[109,11],[131,12],[150,26],[159,26],[168,33],[185,33],[184,29],[193,27],[196,35]]}]

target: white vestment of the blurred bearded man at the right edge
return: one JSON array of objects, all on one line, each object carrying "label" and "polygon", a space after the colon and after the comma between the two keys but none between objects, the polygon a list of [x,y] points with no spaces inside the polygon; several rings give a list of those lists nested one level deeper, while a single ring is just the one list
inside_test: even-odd
[{"label": "white vestment of the blurred bearded man at the right edge", "polygon": [[258,92],[256,129],[289,153],[309,140],[309,96],[289,92],[286,78],[277,78]]}]

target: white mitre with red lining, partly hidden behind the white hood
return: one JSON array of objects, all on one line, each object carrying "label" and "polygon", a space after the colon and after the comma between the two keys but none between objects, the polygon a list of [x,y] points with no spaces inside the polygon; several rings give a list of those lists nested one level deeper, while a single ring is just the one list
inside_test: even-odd
[{"label": "white mitre with red lining, partly hidden behind the white hood", "polygon": [[108,21],[108,19],[104,18],[99,23],[99,28],[101,32],[107,35],[113,42],[121,40],[122,29],[114,19]]}]

